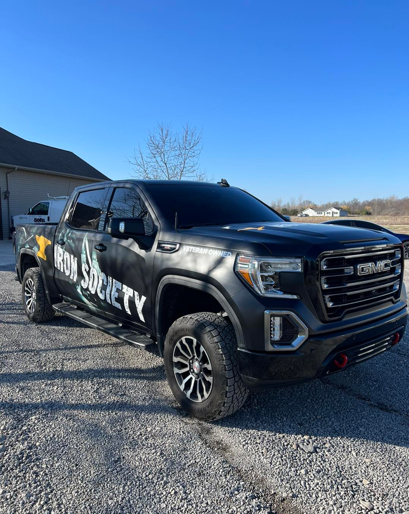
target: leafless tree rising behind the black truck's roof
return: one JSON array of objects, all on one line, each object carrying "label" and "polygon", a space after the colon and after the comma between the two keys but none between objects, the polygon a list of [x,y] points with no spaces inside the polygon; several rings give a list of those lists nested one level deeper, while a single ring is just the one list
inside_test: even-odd
[{"label": "leafless tree rising behind the black truck's roof", "polygon": [[188,124],[180,132],[173,132],[168,123],[158,123],[145,141],[146,149],[140,145],[128,158],[138,178],[165,180],[206,180],[206,171],[199,167],[202,152],[203,130]]}]

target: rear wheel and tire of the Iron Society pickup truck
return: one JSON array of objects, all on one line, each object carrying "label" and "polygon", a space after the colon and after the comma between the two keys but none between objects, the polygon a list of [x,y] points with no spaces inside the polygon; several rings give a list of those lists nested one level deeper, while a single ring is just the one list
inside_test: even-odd
[{"label": "rear wheel and tire of the Iron Society pickup truck", "polygon": [[50,321],[55,314],[47,299],[43,277],[39,268],[29,268],[22,282],[23,305],[27,318],[34,323]]}]

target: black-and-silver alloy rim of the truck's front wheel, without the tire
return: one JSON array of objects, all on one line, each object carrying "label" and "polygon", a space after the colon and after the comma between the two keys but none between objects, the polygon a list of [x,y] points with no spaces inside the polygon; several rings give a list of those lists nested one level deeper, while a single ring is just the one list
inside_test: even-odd
[{"label": "black-and-silver alloy rim of the truck's front wheel, without the tire", "polygon": [[213,387],[213,370],[203,345],[194,337],[182,337],[174,345],[172,361],[180,390],[191,401],[205,401]]}]

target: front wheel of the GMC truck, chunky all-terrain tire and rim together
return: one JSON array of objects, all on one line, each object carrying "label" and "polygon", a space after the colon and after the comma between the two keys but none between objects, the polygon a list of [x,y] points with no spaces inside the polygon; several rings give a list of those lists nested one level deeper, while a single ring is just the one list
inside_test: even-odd
[{"label": "front wheel of the GMC truck, chunky all-terrain tire and rim together", "polygon": [[236,335],[227,317],[198,313],[179,318],[167,333],[164,360],[170,389],[192,416],[221,419],[247,398]]}]

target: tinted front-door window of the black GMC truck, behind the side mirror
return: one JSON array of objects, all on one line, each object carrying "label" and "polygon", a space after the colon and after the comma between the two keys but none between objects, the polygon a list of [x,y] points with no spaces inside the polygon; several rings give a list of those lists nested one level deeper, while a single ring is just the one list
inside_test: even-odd
[{"label": "tinted front-door window of the black GMC truck, behind the side mirror", "polygon": [[116,188],[113,192],[108,218],[142,218],[145,232],[153,230],[153,221],[144,201],[137,191],[129,188]]}]

